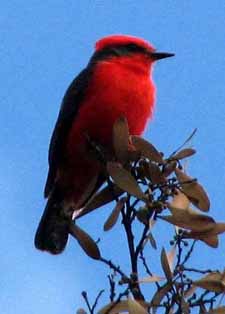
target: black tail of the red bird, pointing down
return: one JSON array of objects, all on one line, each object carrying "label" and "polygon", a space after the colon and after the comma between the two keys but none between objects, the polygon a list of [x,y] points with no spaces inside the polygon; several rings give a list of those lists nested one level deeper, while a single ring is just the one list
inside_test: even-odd
[{"label": "black tail of the red bird, pointing down", "polygon": [[52,254],[61,253],[69,235],[69,218],[64,214],[59,195],[53,192],[46,204],[36,235],[35,246]]}]

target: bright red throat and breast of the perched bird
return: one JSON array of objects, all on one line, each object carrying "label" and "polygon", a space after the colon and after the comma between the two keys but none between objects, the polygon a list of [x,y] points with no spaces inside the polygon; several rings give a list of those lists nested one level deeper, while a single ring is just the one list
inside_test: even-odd
[{"label": "bright red throat and breast of the perched bird", "polygon": [[111,59],[95,66],[69,134],[68,150],[72,156],[79,145],[78,138],[84,140],[84,133],[100,144],[110,146],[113,124],[121,115],[127,118],[131,134],[140,135],[144,131],[152,117],[155,101],[151,70],[150,61],[142,56],[115,58],[115,62]]}]

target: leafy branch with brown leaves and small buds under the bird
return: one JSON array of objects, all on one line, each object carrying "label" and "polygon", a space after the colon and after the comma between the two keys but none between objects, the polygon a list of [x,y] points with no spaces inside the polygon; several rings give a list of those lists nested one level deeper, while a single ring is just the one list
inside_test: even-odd
[{"label": "leafy branch with brown leaves and small buds under the bird", "polygon": [[[208,215],[210,201],[205,189],[185,171],[183,161],[196,151],[182,146],[165,157],[152,143],[130,135],[124,117],[114,124],[112,142],[113,157],[108,159],[101,152],[107,185],[76,215],[76,224],[71,224],[71,234],[87,255],[113,272],[108,277],[110,303],[96,313],[225,313],[225,307],[217,302],[225,293],[224,271],[187,266],[197,242],[217,248],[218,235],[225,231],[225,223]],[[115,207],[103,228],[111,230],[121,218],[129,247],[130,274],[103,257],[97,243],[77,225],[78,218],[112,201]],[[145,250],[149,248],[147,243],[157,249],[153,233],[159,221],[173,225],[174,236],[170,251],[161,248],[162,274],[156,275],[149,268]],[[139,238],[136,222],[142,226]],[[144,278],[140,278],[141,267]],[[196,280],[193,274],[202,277]],[[143,284],[155,285],[155,293],[144,295]],[[117,293],[117,286],[124,291]],[[95,313],[96,306],[97,302],[94,308],[89,306],[89,312]]]}]

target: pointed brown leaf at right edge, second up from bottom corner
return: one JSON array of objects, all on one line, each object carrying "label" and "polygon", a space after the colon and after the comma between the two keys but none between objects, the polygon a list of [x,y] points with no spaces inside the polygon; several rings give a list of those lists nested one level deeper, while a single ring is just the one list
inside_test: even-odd
[{"label": "pointed brown leaf at right edge, second up from bottom corner", "polygon": [[212,272],[203,278],[194,281],[193,285],[217,293],[225,292],[225,284],[222,281],[222,274],[220,272]]}]

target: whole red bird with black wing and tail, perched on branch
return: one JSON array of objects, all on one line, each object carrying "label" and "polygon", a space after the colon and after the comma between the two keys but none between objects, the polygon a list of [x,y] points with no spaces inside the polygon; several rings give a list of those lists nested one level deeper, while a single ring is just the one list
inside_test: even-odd
[{"label": "whole red bird with black wing and tail, perched on branch", "polygon": [[171,56],[133,36],[113,35],[96,43],[87,67],[63,98],[51,138],[44,193],[48,202],[35,236],[38,249],[63,251],[71,208],[86,201],[82,196],[93,180],[92,193],[104,182],[100,164],[88,157],[87,134],[110,150],[113,124],[120,116],[126,117],[130,134],[142,134],[155,101],[153,64]]}]

